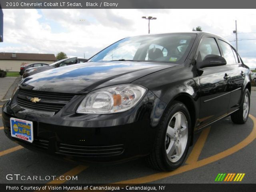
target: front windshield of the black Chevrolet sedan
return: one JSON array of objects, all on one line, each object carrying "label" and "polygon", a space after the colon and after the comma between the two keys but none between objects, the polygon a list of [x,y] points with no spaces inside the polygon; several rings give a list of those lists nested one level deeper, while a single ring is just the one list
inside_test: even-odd
[{"label": "front windshield of the black Chevrolet sedan", "polygon": [[122,39],[93,56],[88,62],[148,61],[182,63],[196,34],[158,34]]}]

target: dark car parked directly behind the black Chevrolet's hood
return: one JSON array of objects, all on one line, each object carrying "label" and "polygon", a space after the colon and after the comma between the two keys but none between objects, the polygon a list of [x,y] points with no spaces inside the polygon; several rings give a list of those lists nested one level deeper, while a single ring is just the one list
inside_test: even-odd
[{"label": "dark car parked directly behind the black Chevrolet's hood", "polygon": [[58,67],[68,66],[68,65],[77,64],[77,63],[84,63],[87,60],[88,59],[72,57],[72,58],[66,58],[66,59],[56,61],[55,63],[50,64],[49,66],[44,66],[44,67],[37,66],[37,67],[29,68],[25,70],[22,78],[26,78],[31,75],[37,74],[39,72],[47,71],[47,70],[58,68]]}]

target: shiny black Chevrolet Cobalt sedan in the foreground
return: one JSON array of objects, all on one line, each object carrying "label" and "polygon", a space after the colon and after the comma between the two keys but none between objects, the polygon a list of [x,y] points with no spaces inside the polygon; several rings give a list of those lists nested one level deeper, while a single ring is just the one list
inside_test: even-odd
[{"label": "shiny black Chevrolet Cobalt sedan in the foreground", "polygon": [[250,70],[205,32],[124,38],[88,60],[30,76],[2,108],[20,145],[86,163],[146,157],[158,170],[184,161],[193,136],[231,115],[244,124]]}]

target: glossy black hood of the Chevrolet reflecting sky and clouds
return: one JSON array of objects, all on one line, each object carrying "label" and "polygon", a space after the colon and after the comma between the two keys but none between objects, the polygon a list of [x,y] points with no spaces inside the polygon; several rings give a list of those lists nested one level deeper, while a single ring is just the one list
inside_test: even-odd
[{"label": "glossy black hood of the Chevrolet reflecting sky and clouds", "polygon": [[25,78],[22,88],[86,94],[115,84],[130,83],[153,72],[176,66],[152,62],[88,62],[40,72]]}]

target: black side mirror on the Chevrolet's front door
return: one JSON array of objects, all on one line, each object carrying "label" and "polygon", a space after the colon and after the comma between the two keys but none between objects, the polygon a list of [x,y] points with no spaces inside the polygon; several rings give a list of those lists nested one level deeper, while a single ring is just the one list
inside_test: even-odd
[{"label": "black side mirror on the Chevrolet's front door", "polygon": [[218,55],[206,55],[203,61],[197,63],[198,68],[216,67],[226,65],[227,62],[222,56]]}]

